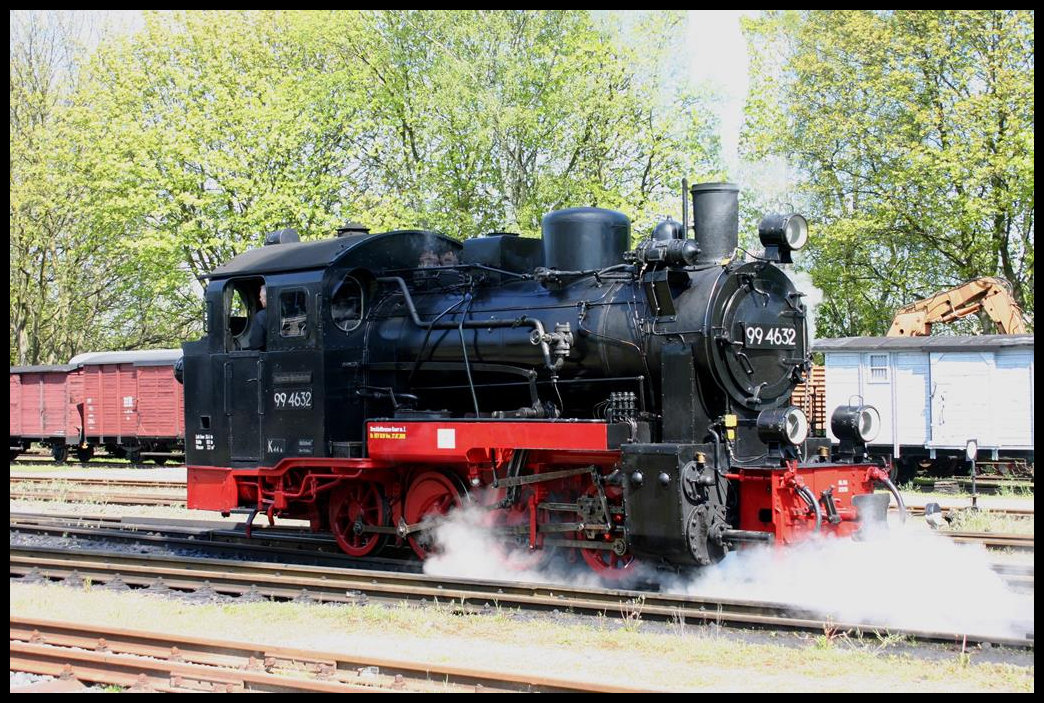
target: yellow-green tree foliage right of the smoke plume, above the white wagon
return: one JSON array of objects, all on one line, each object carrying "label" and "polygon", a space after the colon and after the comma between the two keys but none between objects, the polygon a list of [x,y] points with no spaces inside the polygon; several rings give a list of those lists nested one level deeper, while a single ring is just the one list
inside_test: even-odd
[{"label": "yellow-green tree foliage right of the smoke plume, above the white wagon", "polygon": [[744,146],[801,171],[818,332],[883,334],[979,276],[1031,319],[1033,11],[770,13],[745,31]]}]

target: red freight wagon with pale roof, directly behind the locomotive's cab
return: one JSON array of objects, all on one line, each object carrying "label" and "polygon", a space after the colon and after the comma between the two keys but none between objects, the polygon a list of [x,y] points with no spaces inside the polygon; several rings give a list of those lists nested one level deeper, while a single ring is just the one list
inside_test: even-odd
[{"label": "red freight wagon with pale roof, directly behind the locomotive's cab", "polygon": [[[70,360],[70,388],[81,409],[79,446],[103,446],[133,462],[149,456],[158,464],[184,450],[182,385],[174,380],[180,349],[80,354]],[[73,380],[73,377],[77,377]]]}]

